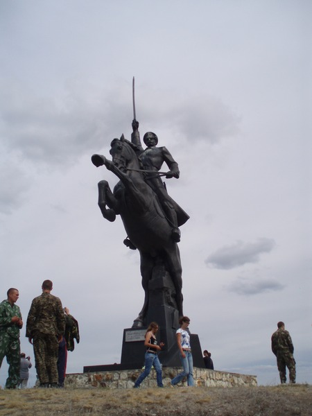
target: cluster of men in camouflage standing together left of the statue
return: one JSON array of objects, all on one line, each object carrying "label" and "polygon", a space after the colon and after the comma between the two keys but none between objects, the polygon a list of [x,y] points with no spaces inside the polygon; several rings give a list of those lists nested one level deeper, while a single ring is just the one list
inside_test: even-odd
[{"label": "cluster of men in camouflage standing together left of the statue", "polygon": [[[64,387],[67,350],[73,351],[74,339],[79,343],[78,322],[62,308],[62,302],[51,295],[53,283],[44,280],[42,294],[31,303],[26,320],[26,337],[33,345],[39,387]],[[6,388],[24,388],[28,380],[30,357],[20,353],[19,331],[23,327],[16,302],[19,291],[10,288],[8,299],[0,304],[0,367],[4,356],[8,361]]]}]

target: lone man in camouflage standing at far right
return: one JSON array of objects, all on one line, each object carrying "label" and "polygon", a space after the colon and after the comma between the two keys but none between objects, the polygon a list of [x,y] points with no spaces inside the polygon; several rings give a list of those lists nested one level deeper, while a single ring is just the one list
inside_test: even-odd
[{"label": "lone man in camouflage standing at far right", "polygon": [[296,362],[293,358],[293,342],[289,332],[285,330],[284,322],[277,323],[277,331],[273,333],[271,338],[272,352],[277,358],[277,368],[281,383],[286,383],[286,366],[289,371],[289,379],[291,383],[296,382]]}]

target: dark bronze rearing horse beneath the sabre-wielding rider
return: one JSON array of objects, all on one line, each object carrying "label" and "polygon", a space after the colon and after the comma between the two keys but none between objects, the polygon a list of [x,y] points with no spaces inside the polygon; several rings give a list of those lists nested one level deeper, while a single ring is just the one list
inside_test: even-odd
[{"label": "dark bronze rearing horse beneath the sabre-wielding rider", "polygon": [[119,178],[113,192],[106,180],[98,182],[98,206],[109,221],[114,221],[116,215],[121,216],[131,243],[139,250],[145,296],[133,327],[141,327],[148,310],[148,282],[159,263],[164,264],[173,281],[180,316],[183,315],[183,296],[180,251],[171,239],[171,225],[156,194],[144,180],[145,174],[136,152],[137,146],[122,135],[121,139],[114,139],[111,143],[112,161],[103,155],[93,155],[92,163],[96,167],[105,165]]}]

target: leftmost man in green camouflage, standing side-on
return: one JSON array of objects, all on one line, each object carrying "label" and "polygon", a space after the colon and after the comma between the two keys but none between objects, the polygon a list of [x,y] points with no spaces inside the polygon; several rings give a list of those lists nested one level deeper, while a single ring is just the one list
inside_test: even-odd
[{"label": "leftmost man in green camouflage, standing side-on", "polygon": [[6,388],[17,388],[21,354],[19,329],[23,326],[23,321],[19,306],[15,305],[19,291],[10,288],[7,295],[8,299],[0,304],[0,367],[6,356],[9,365]]}]

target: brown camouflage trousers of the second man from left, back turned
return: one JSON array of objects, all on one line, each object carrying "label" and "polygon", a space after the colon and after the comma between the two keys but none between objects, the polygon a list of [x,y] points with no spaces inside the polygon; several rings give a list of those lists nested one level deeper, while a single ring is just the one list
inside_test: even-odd
[{"label": "brown camouflage trousers of the second man from left, back turned", "polygon": [[33,337],[35,367],[40,383],[58,383],[58,338],[49,333]]}]

